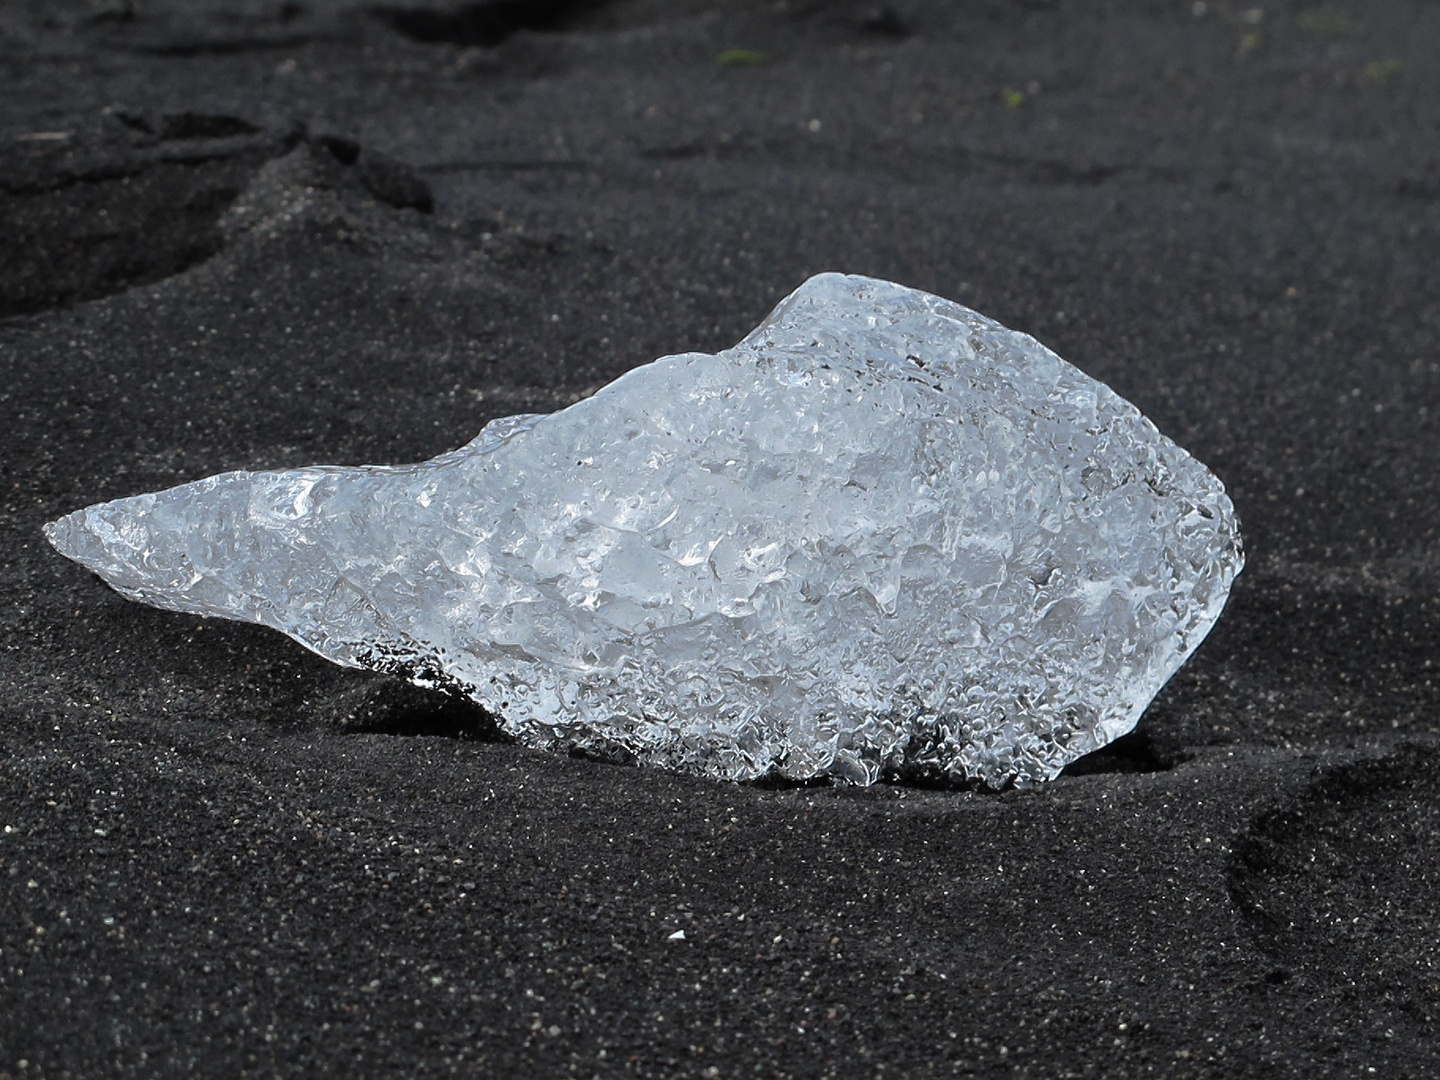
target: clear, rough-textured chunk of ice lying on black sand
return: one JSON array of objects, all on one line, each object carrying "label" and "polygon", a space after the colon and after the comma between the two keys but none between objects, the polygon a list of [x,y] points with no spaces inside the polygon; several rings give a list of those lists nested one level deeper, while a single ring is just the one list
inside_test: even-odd
[{"label": "clear, rough-textured chunk of ice lying on black sand", "polygon": [[46,534],[533,746],[860,783],[1054,776],[1135,726],[1243,564],[1224,487],[1135,406],[837,274],[419,465],[228,472]]}]

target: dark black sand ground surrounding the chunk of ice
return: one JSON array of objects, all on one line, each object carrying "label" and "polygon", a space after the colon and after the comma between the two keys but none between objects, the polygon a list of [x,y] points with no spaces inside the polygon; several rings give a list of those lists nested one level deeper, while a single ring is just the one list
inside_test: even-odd
[{"label": "dark black sand ground surrounding the chunk of ice", "polygon": [[[0,7],[0,1077],[1436,1076],[1440,7],[1257,4]],[[1228,612],[1073,775],[540,756],[40,539],[431,456],[821,269],[1234,494]]]}]

